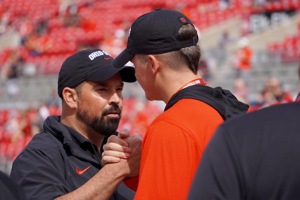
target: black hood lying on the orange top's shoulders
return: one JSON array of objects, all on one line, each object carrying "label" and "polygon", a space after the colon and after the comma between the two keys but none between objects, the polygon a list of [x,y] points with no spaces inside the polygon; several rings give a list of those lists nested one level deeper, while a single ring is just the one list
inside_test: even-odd
[{"label": "black hood lying on the orange top's shoulders", "polygon": [[207,85],[192,85],[175,93],[166,105],[165,111],[181,99],[200,100],[218,111],[223,120],[246,113],[249,108],[249,105],[238,101],[229,90],[223,90],[221,87],[212,88]]}]

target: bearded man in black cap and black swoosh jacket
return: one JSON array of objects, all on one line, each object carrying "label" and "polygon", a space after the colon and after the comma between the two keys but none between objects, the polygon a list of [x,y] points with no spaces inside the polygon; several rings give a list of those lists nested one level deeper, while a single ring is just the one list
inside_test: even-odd
[{"label": "bearded man in black cap and black swoosh jacket", "polygon": [[136,156],[118,165],[101,164],[103,144],[117,134],[123,81],[136,80],[133,67],[115,69],[112,60],[106,51],[94,49],[64,61],[58,75],[62,115],[49,116],[43,132],[13,163],[11,178],[27,199],[133,199],[135,193],[122,181],[138,174],[141,139],[124,143],[137,146],[124,155]]}]

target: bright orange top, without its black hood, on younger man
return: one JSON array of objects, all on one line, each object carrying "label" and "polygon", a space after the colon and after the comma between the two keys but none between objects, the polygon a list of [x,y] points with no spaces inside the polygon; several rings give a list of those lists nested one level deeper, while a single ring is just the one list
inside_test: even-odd
[{"label": "bright orange top, without its black hood, on younger man", "polygon": [[135,178],[125,181],[136,191],[135,200],[186,199],[203,151],[222,122],[214,108],[195,99],[181,99],[159,115],[143,139],[137,190]]}]

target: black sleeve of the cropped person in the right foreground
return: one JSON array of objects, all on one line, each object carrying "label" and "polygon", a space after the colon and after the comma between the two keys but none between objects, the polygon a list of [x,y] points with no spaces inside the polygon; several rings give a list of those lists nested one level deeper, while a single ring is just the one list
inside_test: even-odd
[{"label": "black sleeve of the cropped person in the right foreground", "polygon": [[236,149],[220,126],[204,151],[187,199],[241,200],[243,185]]}]

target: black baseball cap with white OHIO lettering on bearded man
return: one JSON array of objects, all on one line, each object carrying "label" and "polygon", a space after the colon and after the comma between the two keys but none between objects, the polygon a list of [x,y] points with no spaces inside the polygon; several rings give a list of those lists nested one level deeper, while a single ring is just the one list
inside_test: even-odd
[{"label": "black baseball cap with white OHIO lettering on bearded man", "polygon": [[135,68],[112,66],[113,57],[101,49],[87,49],[69,56],[58,75],[58,96],[62,97],[65,87],[74,88],[84,80],[104,81],[120,72],[124,82],[135,82]]}]

